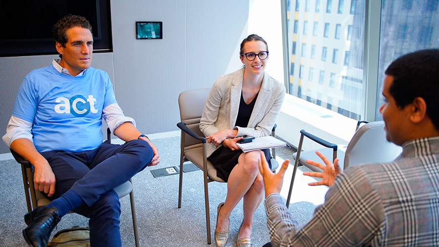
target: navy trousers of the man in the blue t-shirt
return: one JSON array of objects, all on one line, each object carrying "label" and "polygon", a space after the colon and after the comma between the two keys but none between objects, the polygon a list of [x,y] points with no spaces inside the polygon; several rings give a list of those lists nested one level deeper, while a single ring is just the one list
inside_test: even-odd
[{"label": "navy trousers of the man in the blue t-shirt", "polygon": [[[86,203],[73,211],[89,218],[90,245],[120,247],[120,202],[113,188],[143,170],[154,156],[149,144],[132,140],[123,145],[102,143],[89,151],[69,153],[52,150],[41,153],[55,174],[56,199],[74,190]],[[44,193],[43,193],[44,194]]]}]

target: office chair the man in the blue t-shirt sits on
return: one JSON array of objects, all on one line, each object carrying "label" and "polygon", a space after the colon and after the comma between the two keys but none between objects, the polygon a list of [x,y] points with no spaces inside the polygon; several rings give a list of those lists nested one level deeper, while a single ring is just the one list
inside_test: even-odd
[{"label": "office chair the man in the blue t-shirt sits on", "polygon": [[[107,140],[111,143],[111,131],[107,128]],[[43,194],[39,190],[35,190],[34,187],[34,171],[32,170],[32,164],[24,159],[21,155],[16,153],[14,150],[10,149],[12,156],[14,156],[15,160],[21,164],[21,172],[23,175],[23,185],[24,185],[24,194],[26,197],[27,209],[29,212],[32,212],[34,208],[37,206],[45,206],[49,204],[50,200],[45,198]],[[134,228],[134,242],[135,246],[139,247],[139,234],[137,229],[137,217],[135,214],[135,205],[134,205],[134,191],[132,188],[132,180],[125,182],[124,184],[114,188],[114,191],[117,193],[119,198],[123,198],[130,194],[131,201],[131,213],[132,213],[132,226]],[[71,213],[71,212],[69,212]]]}]

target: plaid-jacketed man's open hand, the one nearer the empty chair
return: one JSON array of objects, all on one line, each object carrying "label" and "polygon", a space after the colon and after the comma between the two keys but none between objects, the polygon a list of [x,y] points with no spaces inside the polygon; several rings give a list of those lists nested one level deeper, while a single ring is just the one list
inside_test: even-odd
[{"label": "plaid-jacketed man's open hand, the one nearer the empty chair", "polygon": [[322,178],[322,180],[318,182],[312,182],[308,185],[314,186],[314,185],[326,185],[331,186],[334,184],[335,178],[337,175],[342,172],[340,169],[340,166],[338,164],[339,158],[336,158],[334,160],[334,163],[332,163],[325,155],[323,155],[319,151],[315,151],[315,153],[325,162],[326,165],[319,163],[317,161],[307,160],[308,164],[311,164],[313,166],[316,166],[323,170],[323,172],[304,172],[304,175],[310,176],[310,177],[318,177]]}]

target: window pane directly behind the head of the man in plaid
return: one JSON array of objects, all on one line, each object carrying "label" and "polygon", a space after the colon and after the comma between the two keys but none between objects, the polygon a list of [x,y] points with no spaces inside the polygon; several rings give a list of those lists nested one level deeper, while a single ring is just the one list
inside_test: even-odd
[{"label": "window pane directly behind the head of the man in plaid", "polygon": [[[379,107],[385,70],[399,56],[439,47],[438,0],[383,0],[378,65],[376,119],[381,120]],[[415,85],[414,85],[415,86]]]}]

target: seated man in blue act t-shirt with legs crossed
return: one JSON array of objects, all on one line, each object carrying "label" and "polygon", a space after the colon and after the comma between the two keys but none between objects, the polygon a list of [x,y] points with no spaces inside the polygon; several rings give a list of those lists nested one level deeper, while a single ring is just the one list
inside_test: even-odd
[{"label": "seated man in blue act t-shirt with legs crossed", "polygon": [[[61,59],[24,78],[3,136],[32,163],[35,188],[52,200],[25,215],[23,236],[31,247],[45,247],[69,211],[90,218],[91,246],[120,247],[120,202],[113,188],[160,162],[157,148],[117,104],[108,74],[90,67],[91,31],[76,15],[53,27]],[[102,118],[124,145],[102,143]]]}]

